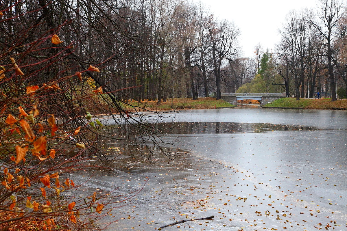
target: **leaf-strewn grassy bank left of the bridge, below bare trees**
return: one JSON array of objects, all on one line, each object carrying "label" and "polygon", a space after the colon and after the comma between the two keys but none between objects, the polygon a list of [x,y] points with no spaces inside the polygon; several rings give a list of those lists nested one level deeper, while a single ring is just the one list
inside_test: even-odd
[{"label": "leaf-strewn grassy bank left of the bridge, below bare trees", "polygon": [[[166,102],[161,102],[158,104],[158,100],[152,101],[142,101],[141,103],[137,101],[129,101],[129,104],[138,107],[144,107],[149,110],[172,110],[172,109],[210,109],[219,107],[232,107],[235,105],[229,104],[226,101],[215,98],[198,98],[193,100],[192,98],[174,98],[171,107],[171,99]],[[125,106],[126,110],[133,110],[129,106]]]}]

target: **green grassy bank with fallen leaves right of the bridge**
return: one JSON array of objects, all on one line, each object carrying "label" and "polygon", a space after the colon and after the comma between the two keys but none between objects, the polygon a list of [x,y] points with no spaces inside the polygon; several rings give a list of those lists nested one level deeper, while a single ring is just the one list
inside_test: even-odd
[{"label": "green grassy bank with fallen leaves right of the bridge", "polygon": [[280,98],[265,107],[302,107],[305,109],[343,109],[347,110],[347,99],[338,99],[332,102],[331,99],[300,99]]}]

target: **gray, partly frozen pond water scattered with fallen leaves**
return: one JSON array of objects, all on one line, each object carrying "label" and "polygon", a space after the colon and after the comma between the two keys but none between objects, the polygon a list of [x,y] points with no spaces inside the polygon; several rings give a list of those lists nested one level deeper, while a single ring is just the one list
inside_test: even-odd
[{"label": "gray, partly frozen pond water scattered with fallen leaves", "polygon": [[[162,137],[178,138],[180,156],[135,159],[105,140],[105,153],[121,156],[105,170],[93,169],[81,187],[85,194],[114,196],[141,189],[132,198],[115,198],[124,202],[101,220],[113,222],[108,230],[155,230],[210,215],[213,220],[163,230],[325,230],[328,223],[329,230],[347,230],[346,111],[232,108],[163,115],[160,122],[174,128]],[[88,177],[78,175],[75,183]]]}]

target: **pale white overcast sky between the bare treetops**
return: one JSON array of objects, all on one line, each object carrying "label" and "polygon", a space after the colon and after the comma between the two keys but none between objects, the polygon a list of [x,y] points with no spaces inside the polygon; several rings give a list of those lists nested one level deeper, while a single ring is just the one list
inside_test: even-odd
[{"label": "pale white overcast sky between the bare treetops", "polygon": [[234,20],[241,31],[243,56],[252,57],[254,47],[274,49],[278,30],[290,10],[316,8],[316,0],[193,0],[203,2],[215,18]]}]

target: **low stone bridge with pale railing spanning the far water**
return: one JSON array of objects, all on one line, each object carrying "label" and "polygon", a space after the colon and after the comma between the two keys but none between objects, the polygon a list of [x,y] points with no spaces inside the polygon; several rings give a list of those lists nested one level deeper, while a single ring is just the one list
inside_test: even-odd
[{"label": "low stone bridge with pale railing spanning the far water", "polygon": [[[213,92],[213,97],[216,97],[216,92]],[[237,106],[237,100],[255,99],[260,101],[260,105],[271,103],[272,101],[287,97],[286,93],[222,93],[222,99],[230,104]]]}]

